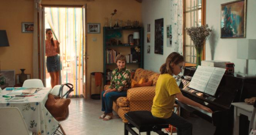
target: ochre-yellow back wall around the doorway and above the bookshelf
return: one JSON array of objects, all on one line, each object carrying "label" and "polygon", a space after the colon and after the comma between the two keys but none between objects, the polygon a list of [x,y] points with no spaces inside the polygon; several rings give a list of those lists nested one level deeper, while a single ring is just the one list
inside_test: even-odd
[{"label": "ochre-yellow back wall around the doorway and above the bookshelf", "polygon": [[[89,73],[103,72],[103,27],[105,23],[104,18],[110,18],[111,12],[113,12],[114,9],[117,9],[117,14],[113,16],[113,20],[116,18],[118,18],[119,20],[123,20],[123,25],[125,24],[124,22],[127,20],[137,20],[139,22],[142,22],[141,4],[139,2],[136,2],[135,0],[42,0],[41,4],[87,4],[87,22],[101,24],[100,34],[87,35],[87,88],[89,88]],[[19,69],[25,68],[25,73],[33,73],[33,34],[21,33],[21,22],[33,21],[33,0],[1,1],[0,11],[0,29],[7,30],[10,43],[10,47],[0,48],[0,60],[2,61],[1,68],[14,69],[16,73],[20,73]],[[92,41],[92,38],[96,38],[96,41]],[[94,91],[92,90],[92,94],[93,93]]]}]

